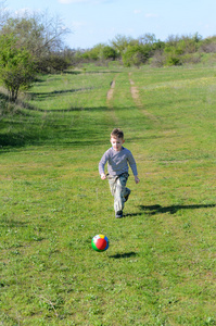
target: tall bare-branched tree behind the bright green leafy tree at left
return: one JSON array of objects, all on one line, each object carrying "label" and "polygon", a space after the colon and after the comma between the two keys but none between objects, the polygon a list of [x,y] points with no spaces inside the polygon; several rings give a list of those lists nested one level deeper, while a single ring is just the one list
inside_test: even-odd
[{"label": "tall bare-branched tree behind the bright green leafy tree at left", "polygon": [[49,17],[47,12],[31,15],[25,12],[22,16],[10,17],[0,30],[1,35],[13,34],[17,47],[26,48],[31,53],[38,72],[43,72],[42,67],[46,67],[51,54],[63,50],[63,38],[67,33],[69,30],[61,18]]}]

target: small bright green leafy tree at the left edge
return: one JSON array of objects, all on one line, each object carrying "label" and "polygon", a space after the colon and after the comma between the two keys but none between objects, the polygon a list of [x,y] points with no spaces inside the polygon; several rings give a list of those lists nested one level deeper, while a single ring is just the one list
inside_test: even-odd
[{"label": "small bright green leafy tree at the left edge", "polygon": [[28,89],[36,70],[29,51],[17,47],[14,35],[0,36],[0,79],[9,91],[11,101],[16,101],[21,89]]}]

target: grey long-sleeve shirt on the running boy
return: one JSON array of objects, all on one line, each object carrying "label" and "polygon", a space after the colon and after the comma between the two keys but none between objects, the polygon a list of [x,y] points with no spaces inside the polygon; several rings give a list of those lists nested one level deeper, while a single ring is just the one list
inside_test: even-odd
[{"label": "grey long-sleeve shirt on the running boy", "polygon": [[119,152],[115,151],[113,148],[110,148],[102,156],[99,163],[99,173],[104,173],[104,167],[107,162],[107,172],[112,176],[120,175],[122,173],[128,172],[128,164],[135,176],[137,173],[137,164],[132,156],[132,153],[122,147]]}]

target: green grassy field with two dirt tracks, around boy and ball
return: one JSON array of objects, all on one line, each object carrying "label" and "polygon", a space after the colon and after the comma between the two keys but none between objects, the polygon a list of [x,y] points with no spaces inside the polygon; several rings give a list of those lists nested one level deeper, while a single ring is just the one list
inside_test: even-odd
[{"label": "green grassy field with two dirt tracks, around boy and ball", "polygon": [[[216,68],[88,66],[22,100],[0,116],[0,325],[216,325]],[[114,127],[140,177],[120,220]]]}]

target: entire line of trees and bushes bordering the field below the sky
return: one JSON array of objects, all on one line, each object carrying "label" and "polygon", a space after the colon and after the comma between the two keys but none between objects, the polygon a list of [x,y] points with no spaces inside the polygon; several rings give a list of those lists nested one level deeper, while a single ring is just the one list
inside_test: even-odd
[{"label": "entire line of trees and bushes bordering the field below the sky", "polygon": [[20,91],[28,89],[38,74],[63,72],[88,62],[161,67],[198,63],[205,53],[216,52],[216,36],[203,39],[198,33],[169,36],[165,41],[154,34],[137,39],[117,35],[109,43],[73,50],[64,45],[71,32],[60,17],[50,17],[48,12],[14,16],[4,2],[0,2],[0,82],[11,101],[16,101]]}]

